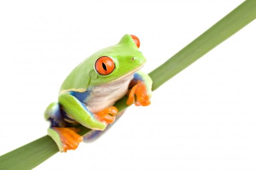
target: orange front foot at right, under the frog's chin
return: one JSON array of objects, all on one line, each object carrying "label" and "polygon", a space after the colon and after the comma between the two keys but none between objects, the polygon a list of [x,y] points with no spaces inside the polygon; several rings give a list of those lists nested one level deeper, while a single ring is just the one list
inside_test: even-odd
[{"label": "orange front foot at right, under the frog's chin", "polygon": [[[135,102],[136,95],[136,102]],[[137,84],[129,91],[127,105],[132,105],[135,102],[136,106],[150,105],[150,96],[147,94],[147,88],[143,81],[138,80]]]}]

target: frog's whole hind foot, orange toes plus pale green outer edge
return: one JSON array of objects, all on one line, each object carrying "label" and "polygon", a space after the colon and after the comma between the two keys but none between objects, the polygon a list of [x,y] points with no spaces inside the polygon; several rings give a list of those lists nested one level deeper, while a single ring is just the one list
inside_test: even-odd
[{"label": "frog's whole hind foot, orange toes plus pale green outer edge", "polygon": [[61,152],[75,150],[79,143],[83,141],[83,137],[76,132],[79,132],[79,129],[74,127],[52,127],[48,129],[48,135],[56,142]]}]

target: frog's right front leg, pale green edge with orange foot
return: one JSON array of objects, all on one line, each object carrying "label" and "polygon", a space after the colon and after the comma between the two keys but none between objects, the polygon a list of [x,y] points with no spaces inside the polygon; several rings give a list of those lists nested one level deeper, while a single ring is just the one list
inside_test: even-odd
[{"label": "frog's right front leg, pale green edge with orange foot", "polygon": [[135,96],[136,106],[150,105],[152,79],[148,76],[148,74],[137,71],[134,74],[134,79],[132,79],[129,88],[128,100],[126,102],[127,105],[132,105],[135,102]]}]

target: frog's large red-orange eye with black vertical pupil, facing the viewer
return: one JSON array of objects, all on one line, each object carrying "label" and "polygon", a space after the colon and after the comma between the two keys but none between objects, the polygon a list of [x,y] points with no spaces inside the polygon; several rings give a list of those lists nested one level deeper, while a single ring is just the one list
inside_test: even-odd
[{"label": "frog's large red-orange eye with black vertical pupil, facing the viewer", "polygon": [[100,57],[95,63],[95,69],[101,75],[111,74],[114,68],[115,63],[113,59],[107,56]]}]

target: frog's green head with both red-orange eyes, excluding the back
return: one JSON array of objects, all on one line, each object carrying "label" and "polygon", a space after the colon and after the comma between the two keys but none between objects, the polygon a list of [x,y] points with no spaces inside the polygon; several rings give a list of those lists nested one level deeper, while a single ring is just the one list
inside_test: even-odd
[{"label": "frog's green head with both red-orange eyes, excluding the back", "polygon": [[118,44],[93,54],[94,69],[90,71],[90,85],[113,82],[139,70],[146,62],[139,47],[140,40],[126,34]]}]

